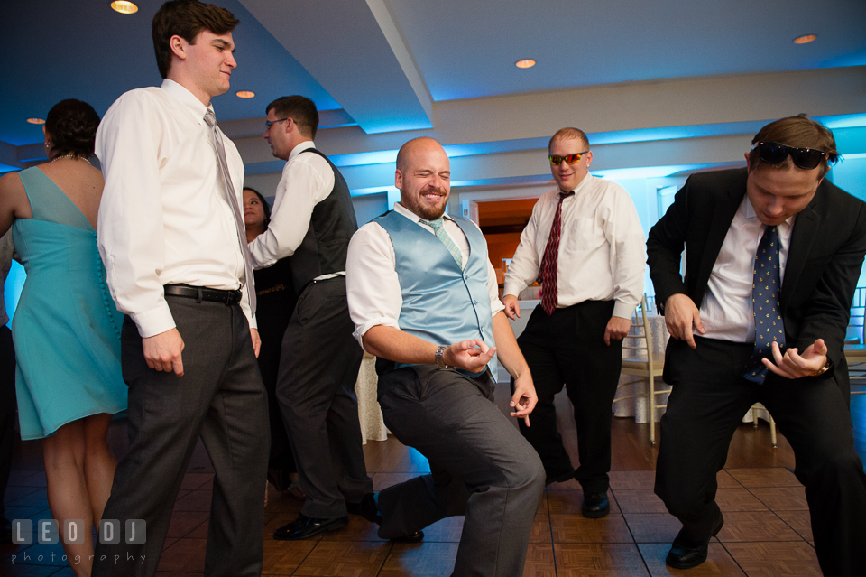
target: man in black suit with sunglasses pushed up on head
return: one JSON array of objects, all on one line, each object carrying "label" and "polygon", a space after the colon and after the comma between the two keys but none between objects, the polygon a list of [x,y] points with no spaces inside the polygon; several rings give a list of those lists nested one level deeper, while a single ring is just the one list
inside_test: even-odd
[{"label": "man in black suit with sunglasses pushed up on head", "polygon": [[822,571],[864,575],[866,475],[843,340],[866,205],[825,180],[834,137],[805,115],[764,126],[752,144],[746,168],[689,177],[647,242],[672,337],[655,490],[683,528],[667,563],[706,560],[723,526],[716,474],[742,415],[762,403],[794,449]]}]

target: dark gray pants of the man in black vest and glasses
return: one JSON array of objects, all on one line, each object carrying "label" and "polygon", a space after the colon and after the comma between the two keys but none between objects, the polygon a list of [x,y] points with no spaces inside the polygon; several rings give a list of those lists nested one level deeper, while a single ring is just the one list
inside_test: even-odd
[{"label": "dark gray pants of the man in black vest and glasses", "polygon": [[345,517],[346,501],[373,492],[358,423],[355,381],[364,351],[345,299],[345,276],[309,284],[282,340],[277,400],[308,517]]}]

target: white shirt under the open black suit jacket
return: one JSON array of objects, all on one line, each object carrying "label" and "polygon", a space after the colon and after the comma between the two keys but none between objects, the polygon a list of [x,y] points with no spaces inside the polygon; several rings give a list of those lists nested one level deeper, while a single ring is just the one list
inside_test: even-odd
[{"label": "white shirt under the open black suit jacket", "polygon": [[[785,278],[794,219],[791,217],[777,227],[779,282]],[[735,342],[755,341],[751,286],[755,253],[766,228],[767,225],[761,224],[755,214],[749,196],[743,196],[706,284],[700,309],[701,322],[706,330],[704,337]]]}]

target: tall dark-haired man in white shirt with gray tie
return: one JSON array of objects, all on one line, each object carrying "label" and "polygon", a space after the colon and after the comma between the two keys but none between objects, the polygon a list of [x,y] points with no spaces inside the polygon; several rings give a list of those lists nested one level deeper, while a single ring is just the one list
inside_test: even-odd
[{"label": "tall dark-haired man in white shirt with gray tie", "polygon": [[[238,210],[244,165],[210,106],[229,88],[237,22],[197,0],[162,5],[152,23],[161,88],[125,93],[97,133],[98,244],[127,315],[130,448],[104,515],[120,521],[120,543],[97,545],[94,575],[156,572],[199,436],[216,471],[206,572],[262,570],[268,411]],[[146,536],[127,535],[130,519]]]}]

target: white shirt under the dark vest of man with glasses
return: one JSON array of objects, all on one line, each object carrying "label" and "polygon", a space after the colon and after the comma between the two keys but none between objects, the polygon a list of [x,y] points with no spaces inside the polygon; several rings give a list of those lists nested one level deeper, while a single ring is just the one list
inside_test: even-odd
[{"label": "white shirt under the dark vest of man with glasses", "polygon": [[[256,269],[267,268],[281,258],[295,254],[307,236],[313,209],[334,190],[334,170],[327,160],[315,153],[300,154],[315,147],[308,140],[291,149],[274,195],[268,229],[250,243]],[[321,275],[313,280],[344,274]]]}]

